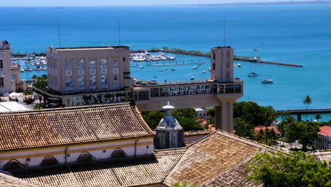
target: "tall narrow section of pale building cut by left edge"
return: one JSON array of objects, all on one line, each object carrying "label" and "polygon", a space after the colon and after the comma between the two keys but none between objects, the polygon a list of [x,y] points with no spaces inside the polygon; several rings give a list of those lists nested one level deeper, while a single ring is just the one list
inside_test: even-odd
[{"label": "tall narrow section of pale building cut by left edge", "polygon": [[9,93],[11,86],[11,45],[0,40],[0,95]]}]

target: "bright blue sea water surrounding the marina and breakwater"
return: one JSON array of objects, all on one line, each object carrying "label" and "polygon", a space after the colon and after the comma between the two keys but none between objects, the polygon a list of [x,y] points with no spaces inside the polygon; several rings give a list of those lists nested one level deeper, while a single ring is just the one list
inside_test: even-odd
[{"label": "bright blue sea water surrounding the marina and breakwater", "polygon": [[[256,101],[277,109],[305,108],[306,95],[311,108],[331,105],[331,6],[237,6],[237,7],[94,7],[94,8],[0,8],[0,38],[9,40],[13,51],[40,52],[50,45],[62,47],[117,45],[117,18],[120,17],[122,45],[132,49],[180,47],[209,52],[223,45],[223,19],[226,18],[226,45],[236,55],[260,56],[262,60],[303,64],[282,67],[239,62],[236,77],[245,81],[240,101]],[[259,52],[252,49],[260,48]],[[207,62],[200,69],[176,66],[176,71],[158,72],[163,67],[132,67],[138,79],[185,80],[203,74],[209,58],[175,55],[187,62]],[[238,62],[236,62],[238,63]],[[135,64],[135,63],[132,63]],[[172,68],[172,67],[168,67]],[[247,77],[249,72],[260,77]],[[33,73],[23,73],[30,79]],[[45,74],[45,72],[38,72]],[[274,79],[274,84],[261,84]]]}]

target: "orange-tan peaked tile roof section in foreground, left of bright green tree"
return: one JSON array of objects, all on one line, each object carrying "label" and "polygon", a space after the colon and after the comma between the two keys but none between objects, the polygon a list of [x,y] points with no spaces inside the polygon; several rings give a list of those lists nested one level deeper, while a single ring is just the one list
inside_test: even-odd
[{"label": "orange-tan peaked tile roof section in foreground, left of bright green tree", "polygon": [[[277,149],[260,145],[257,142],[227,132],[216,131],[187,147],[187,151],[165,178],[164,183],[170,186],[171,183],[176,181],[187,181],[190,184],[203,185],[210,181],[208,184],[213,183],[213,186],[223,186],[224,183],[240,186],[237,184],[246,183],[244,181],[245,177],[240,174],[243,167],[240,166],[240,163],[244,164],[248,162],[248,158],[267,150],[274,152]],[[217,176],[221,176],[221,178],[217,178]],[[216,182],[217,179],[226,176],[229,177],[228,181]],[[236,182],[237,176],[238,183]],[[213,182],[211,182],[212,179],[214,179]]]}]

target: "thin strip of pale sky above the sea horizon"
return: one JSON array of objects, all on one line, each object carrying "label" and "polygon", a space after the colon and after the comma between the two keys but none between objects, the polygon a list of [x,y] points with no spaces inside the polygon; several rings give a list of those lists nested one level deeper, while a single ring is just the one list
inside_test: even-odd
[{"label": "thin strip of pale sky above the sea horizon", "polygon": [[221,4],[289,0],[0,0],[0,6],[135,6],[167,4]]}]

